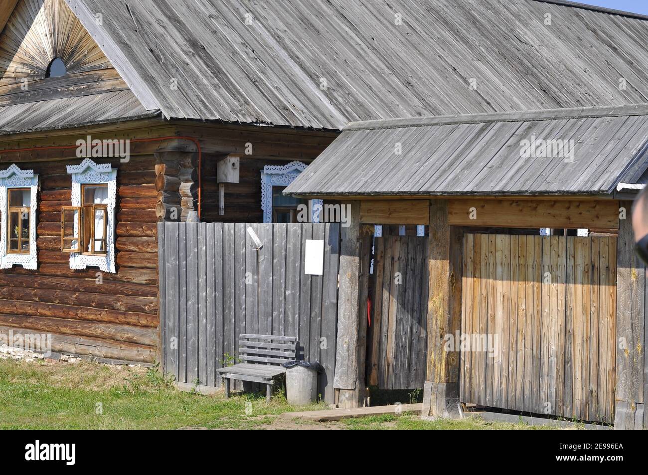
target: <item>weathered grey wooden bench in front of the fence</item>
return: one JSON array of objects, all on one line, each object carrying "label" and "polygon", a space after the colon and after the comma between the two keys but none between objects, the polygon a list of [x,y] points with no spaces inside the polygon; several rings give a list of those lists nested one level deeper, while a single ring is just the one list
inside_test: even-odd
[{"label": "weathered grey wooden bench in front of the fence", "polygon": [[265,384],[266,402],[270,402],[275,380],[286,373],[282,365],[297,359],[297,338],[241,334],[238,339],[242,363],[217,370],[225,383],[225,397],[229,398],[230,381],[235,379]]}]

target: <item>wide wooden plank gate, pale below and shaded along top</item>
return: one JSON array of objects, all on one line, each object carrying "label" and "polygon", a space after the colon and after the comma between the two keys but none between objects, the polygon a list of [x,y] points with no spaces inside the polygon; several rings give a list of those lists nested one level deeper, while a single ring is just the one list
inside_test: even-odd
[{"label": "wide wooden plank gate, pale below and shaded along top", "polygon": [[461,400],[612,422],[616,238],[463,244]]}]

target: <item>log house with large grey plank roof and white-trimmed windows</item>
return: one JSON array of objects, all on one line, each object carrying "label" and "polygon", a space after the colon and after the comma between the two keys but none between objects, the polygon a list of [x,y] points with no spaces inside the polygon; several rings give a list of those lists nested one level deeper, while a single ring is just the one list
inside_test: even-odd
[{"label": "log house with large grey plank roof and white-trimmed windows", "polygon": [[349,122],[648,96],[642,16],[536,0],[313,8],[0,0],[3,334],[154,362],[157,223],[294,220],[281,191]]}]

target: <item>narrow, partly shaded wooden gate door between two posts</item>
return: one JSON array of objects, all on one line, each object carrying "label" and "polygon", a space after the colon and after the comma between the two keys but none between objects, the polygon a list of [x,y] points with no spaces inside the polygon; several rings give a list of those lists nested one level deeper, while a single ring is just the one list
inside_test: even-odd
[{"label": "narrow, partly shaded wooden gate door between two posts", "polygon": [[373,321],[369,327],[369,384],[379,389],[422,388],[428,310],[428,240],[375,239]]}]

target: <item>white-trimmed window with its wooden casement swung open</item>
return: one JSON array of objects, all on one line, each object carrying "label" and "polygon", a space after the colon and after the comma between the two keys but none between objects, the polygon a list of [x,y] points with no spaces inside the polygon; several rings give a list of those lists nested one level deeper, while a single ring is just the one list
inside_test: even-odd
[{"label": "white-trimmed window with its wooden casement swung open", "polygon": [[115,193],[117,170],[85,159],[67,167],[72,174],[72,206],[61,209],[61,249],[70,268],[97,266],[115,272]]}]

